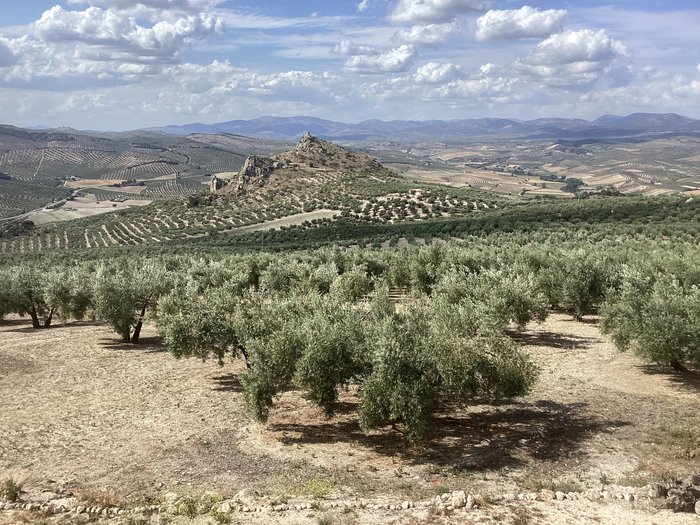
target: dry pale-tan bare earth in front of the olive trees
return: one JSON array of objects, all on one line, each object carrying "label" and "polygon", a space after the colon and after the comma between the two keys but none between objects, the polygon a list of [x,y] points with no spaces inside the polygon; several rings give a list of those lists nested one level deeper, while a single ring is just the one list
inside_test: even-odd
[{"label": "dry pale-tan bare earth in front of the olive trees", "polygon": [[[100,324],[34,331],[26,320],[0,322],[0,480],[24,480],[26,500],[72,492],[123,507],[168,491],[230,498],[241,489],[268,502],[400,504],[450,490],[491,501],[452,517],[428,509],[300,510],[234,515],[234,523],[699,522],[645,500],[497,501],[700,472],[700,385],[619,354],[592,320],[553,314],[515,335],[541,367],[534,391],[440,414],[428,443],[413,449],[391,429],[361,432],[352,391],[331,420],[289,392],[267,425],[253,423],[243,409],[240,362],[178,361],[152,327],[144,336],[133,347]],[[18,522],[32,520],[0,511],[0,523]]]}]

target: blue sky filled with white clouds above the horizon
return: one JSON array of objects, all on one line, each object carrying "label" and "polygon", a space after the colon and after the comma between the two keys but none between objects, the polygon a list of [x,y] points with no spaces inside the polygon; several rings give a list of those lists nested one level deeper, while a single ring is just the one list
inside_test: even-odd
[{"label": "blue sky filled with white clouds above the horizon", "polygon": [[700,0],[0,4],[0,123],[700,118]]}]

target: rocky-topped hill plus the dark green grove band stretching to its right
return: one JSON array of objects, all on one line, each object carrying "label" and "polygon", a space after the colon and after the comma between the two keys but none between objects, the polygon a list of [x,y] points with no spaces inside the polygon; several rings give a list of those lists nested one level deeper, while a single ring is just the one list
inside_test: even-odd
[{"label": "rocky-topped hill plus the dark green grove band stretching to its right", "polygon": [[34,227],[12,222],[0,230],[0,253],[380,246],[495,232],[663,237],[663,224],[695,238],[691,225],[700,218],[700,200],[683,195],[532,202],[527,195],[411,180],[310,134],[277,156],[251,156],[208,185],[184,199],[105,215]]}]

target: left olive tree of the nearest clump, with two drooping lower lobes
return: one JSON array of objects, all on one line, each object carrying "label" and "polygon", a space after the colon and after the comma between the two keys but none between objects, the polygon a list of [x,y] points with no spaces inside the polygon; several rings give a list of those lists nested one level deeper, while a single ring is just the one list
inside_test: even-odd
[{"label": "left olive tree of the nearest clump, with two drooping lower lobes", "polygon": [[[289,298],[249,309],[241,337],[250,353],[242,378],[250,412],[267,419],[274,396],[289,387],[332,415],[338,388],[362,369],[364,325],[360,311],[320,297]],[[243,328],[243,327],[241,327]]]}]

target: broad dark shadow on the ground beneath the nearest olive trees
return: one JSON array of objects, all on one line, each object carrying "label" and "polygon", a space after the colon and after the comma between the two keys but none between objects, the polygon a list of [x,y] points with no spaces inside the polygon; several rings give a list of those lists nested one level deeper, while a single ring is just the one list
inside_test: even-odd
[{"label": "broad dark shadow on the ground beneath the nearest olive trees", "polygon": [[[347,403],[345,413],[355,411]],[[409,446],[395,427],[365,434],[356,417],[325,422],[270,423],[286,445],[349,442],[386,456],[399,456],[414,464],[431,464],[459,471],[515,467],[529,460],[554,462],[580,453],[591,436],[609,433],[630,423],[602,419],[586,412],[585,403],[511,403],[481,405],[468,411],[436,414],[429,423],[426,440]],[[337,419],[341,419],[337,421]]]}]

